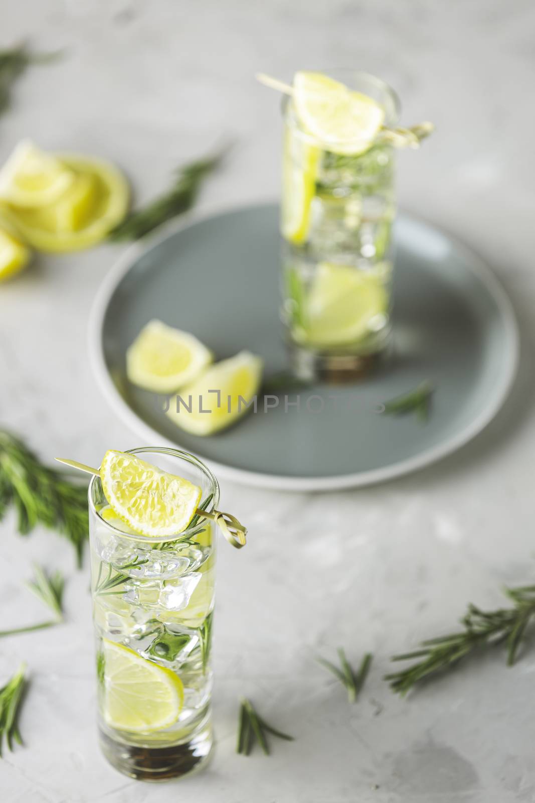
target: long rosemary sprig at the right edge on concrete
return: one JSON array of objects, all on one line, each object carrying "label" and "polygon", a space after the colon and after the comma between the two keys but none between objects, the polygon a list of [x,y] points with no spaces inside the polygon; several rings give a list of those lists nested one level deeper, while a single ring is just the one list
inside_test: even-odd
[{"label": "long rosemary sprig at the right edge on concrete", "polygon": [[428,638],[421,648],[410,653],[395,655],[392,661],[421,660],[399,672],[386,675],[393,691],[406,695],[416,683],[429,679],[455,666],[462,658],[479,650],[505,644],[508,666],[513,666],[525,631],[535,616],[535,585],[505,589],[513,601],[512,608],[484,611],[476,605],[468,605],[467,613],[460,620],[463,630],[456,633]]}]

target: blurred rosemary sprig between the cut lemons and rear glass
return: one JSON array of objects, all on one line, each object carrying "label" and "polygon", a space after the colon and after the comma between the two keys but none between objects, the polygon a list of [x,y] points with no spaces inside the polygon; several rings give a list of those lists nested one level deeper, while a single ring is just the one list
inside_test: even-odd
[{"label": "blurred rosemary sprig between the cut lemons and rear glass", "polygon": [[198,159],[179,168],[171,188],[160,195],[160,198],[149,202],[143,209],[128,214],[119,226],[111,230],[110,239],[114,241],[139,239],[162,223],[191,209],[205,177],[221,165],[227,151],[228,148],[221,149],[212,156]]}]

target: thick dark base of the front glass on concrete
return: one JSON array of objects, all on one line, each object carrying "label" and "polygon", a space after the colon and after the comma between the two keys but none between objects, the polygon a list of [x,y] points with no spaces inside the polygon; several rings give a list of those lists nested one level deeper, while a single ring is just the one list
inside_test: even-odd
[{"label": "thick dark base of the front glass on concrete", "polygon": [[126,744],[99,730],[104,756],[124,775],[138,781],[168,781],[198,772],[208,763],[213,746],[212,723],[193,734],[182,744],[167,747],[141,747]]}]

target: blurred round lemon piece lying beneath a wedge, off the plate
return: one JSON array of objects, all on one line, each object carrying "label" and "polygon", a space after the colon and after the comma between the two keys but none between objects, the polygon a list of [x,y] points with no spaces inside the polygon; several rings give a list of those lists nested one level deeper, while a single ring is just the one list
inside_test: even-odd
[{"label": "blurred round lemon piece lying beneath a wedge, off the plate", "polygon": [[79,251],[99,243],[128,210],[123,174],[107,161],[60,154],[74,175],[63,194],[47,206],[6,205],[2,210],[18,234],[38,251]]}]

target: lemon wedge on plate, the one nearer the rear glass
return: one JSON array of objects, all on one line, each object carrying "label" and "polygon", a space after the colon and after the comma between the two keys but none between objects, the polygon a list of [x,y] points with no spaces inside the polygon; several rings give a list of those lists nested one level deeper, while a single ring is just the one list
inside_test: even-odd
[{"label": "lemon wedge on plate, the one nearer the rear glass", "polygon": [[167,415],[194,435],[212,435],[245,415],[260,387],[262,361],[250,352],[211,365],[172,397]]}]

